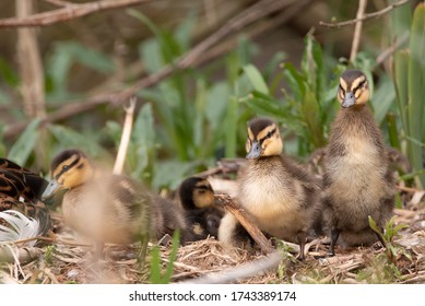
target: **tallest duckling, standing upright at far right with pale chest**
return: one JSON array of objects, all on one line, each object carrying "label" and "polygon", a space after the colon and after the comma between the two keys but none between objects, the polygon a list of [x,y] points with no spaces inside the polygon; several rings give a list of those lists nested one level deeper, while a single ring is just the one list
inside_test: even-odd
[{"label": "tallest duckling, standing upright at far right with pale chest", "polygon": [[358,70],[345,71],[340,78],[338,99],[342,109],[332,125],[323,175],[323,214],[331,231],[330,255],[334,255],[338,240],[342,246],[381,240],[370,229],[368,215],[385,228],[394,205],[388,153],[367,106],[366,75]]}]

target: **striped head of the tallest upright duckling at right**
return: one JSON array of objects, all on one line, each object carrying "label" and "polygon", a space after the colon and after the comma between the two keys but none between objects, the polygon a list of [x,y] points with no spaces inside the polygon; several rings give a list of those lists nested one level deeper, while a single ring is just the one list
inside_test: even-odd
[{"label": "striped head of the tallest upright duckling at right", "polygon": [[369,99],[366,75],[359,70],[346,70],[341,74],[338,99],[344,108],[363,106]]}]

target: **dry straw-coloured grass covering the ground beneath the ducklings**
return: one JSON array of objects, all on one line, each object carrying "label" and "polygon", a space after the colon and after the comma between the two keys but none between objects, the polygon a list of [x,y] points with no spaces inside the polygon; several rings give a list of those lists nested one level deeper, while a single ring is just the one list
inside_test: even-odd
[{"label": "dry straw-coloured grass covering the ground beneath the ducklings", "polygon": [[[337,256],[326,257],[326,239],[309,244],[307,259],[295,260],[295,254],[282,250],[280,263],[273,269],[237,279],[238,283],[424,283],[425,282],[425,209],[420,200],[406,203],[409,209],[396,210],[397,222],[409,225],[400,233],[394,245],[405,249],[410,258],[399,256],[389,261],[379,244],[370,247],[337,249]],[[418,198],[418,197],[416,197]],[[75,240],[62,227],[57,243],[28,250],[10,246],[15,260],[0,263],[0,283],[147,283],[151,255],[145,268],[140,269],[137,246],[107,245],[105,258],[94,261],[93,248]],[[58,242],[62,243],[58,243]],[[63,243],[67,242],[67,243]],[[150,246],[152,248],[152,245]],[[295,252],[295,251],[294,251]],[[25,257],[22,257],[25,254]],[[29,254],[29,255],[28,255]],[[169,260],[170,247],[161,246],[162,268]],[[13,257],[13,256],[12,256]],[[267,260],[259,250],[224,248],[214,238],[196,242],[178,248],[170,282],[181,282],[223,273],[237,267]],[[27,263],[24,263],[27,261]],[[239,269],[240,270],[240,269]]]}]

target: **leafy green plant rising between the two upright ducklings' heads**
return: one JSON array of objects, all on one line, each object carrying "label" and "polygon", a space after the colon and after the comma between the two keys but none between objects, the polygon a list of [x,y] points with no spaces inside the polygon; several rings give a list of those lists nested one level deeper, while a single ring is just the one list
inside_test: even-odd
[{"label": "leafy green plant rising between the two upright ducklings' heads", "polygon": [[[283,96],[273,93],[276,81],[270,80],[272,85],[268,87],[265,80],[255,73],[251,66],[245,67],[253,91],[244,102],[256,114],[270,116],[282,122],[286,128],[284,137],[286,134],[288,138],[286,148],[292,145],[291,153],[300,157],[326,145],[338,106],[334,103],[339,84],[337,75],[344,67],[334,64],[332,70],[324,62],[332,63],[324,60],[320,45],[309,33],[305,38],[300,69],[296,69],[291,62],[284,62],[275,76],[276,80],[283,78],[287,83],[288,90],[282,90]],[[297,138],[291,138],[292,133]]]}]

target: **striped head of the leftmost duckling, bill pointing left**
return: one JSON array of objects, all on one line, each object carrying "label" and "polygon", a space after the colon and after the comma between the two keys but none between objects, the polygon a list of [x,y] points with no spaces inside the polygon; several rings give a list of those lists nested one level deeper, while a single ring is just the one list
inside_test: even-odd
[{"label": "striped head of the leftmost duckling, bill pointing left", "polygon": [[51,180],[42,198],[48,198],[59,189],[72,189],[88,181],[94,168],[80,150],[66,150],[51,162]]}]

